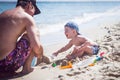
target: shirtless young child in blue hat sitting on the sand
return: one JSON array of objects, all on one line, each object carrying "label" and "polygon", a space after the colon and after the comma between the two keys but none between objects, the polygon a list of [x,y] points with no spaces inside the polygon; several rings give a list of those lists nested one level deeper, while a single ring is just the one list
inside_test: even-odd
[{"label": "shirtless young child in blue hat sitting on the sand", "polygon": [[99,51],[98,44],[81,35],[79,33],[79,28],[76,23],[68,22],[67,24],[65,24],[64,28],[65,28],[65,35],[67,39],[70,39],[70,41],[64,47],[54,52],[53,53],[54,56],[57,56],[59,53],[68,50],[73,45],[75,47],[72,53],[66,56],[67,59],[74,59],[76,57],[81,57],[85,53],[87,53],[88,55],[93,55],[98,53]]}]

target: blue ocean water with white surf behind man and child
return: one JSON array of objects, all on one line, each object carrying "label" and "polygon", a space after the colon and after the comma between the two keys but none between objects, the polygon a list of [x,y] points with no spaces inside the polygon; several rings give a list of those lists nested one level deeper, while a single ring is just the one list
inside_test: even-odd
[{"label": "blue ocean water with white surf behind man and child", "polygon": [[[0,2],[0,13],[14,8],[16,2]],[[34,16],[43,44],[64,41],[64,25],[74,21],[79,25],[102,16],[120,14],[120,2],[38,2],[41,14]],[[83,27],[79,27],[80,29]],[[58,36],[56,36],[58,35]],[[52,38],[51,38],[52,37]],[[58,40],[59,39],[59,40]]]}]

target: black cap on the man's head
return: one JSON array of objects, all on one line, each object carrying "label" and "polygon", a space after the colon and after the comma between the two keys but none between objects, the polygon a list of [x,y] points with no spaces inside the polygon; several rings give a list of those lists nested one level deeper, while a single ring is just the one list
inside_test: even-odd
[{"label": "black cap on the man's head", "polygon": [[16,6],[22,6],[23,8],[25,8],[25,6],[29,3],[32,3],[32,5],[35,7],[34,15],[41,13],[36,5],[36,0],[18,0]]}]

